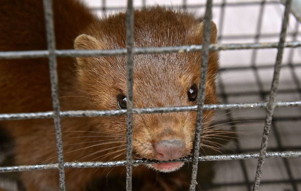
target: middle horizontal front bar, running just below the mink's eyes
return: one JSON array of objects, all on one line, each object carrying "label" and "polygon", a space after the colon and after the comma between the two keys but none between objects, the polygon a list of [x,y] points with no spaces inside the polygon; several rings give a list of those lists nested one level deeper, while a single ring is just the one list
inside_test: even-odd
[{"label": "middle horizontal front bar, running just below the mink's eyes", "polygon": [[[225,109],[248,109],[248,108],[265,108],[267,102],[260,103],[220,103],[220,104],[205,104],[204,110],[225,110]],[[293,107],[301,106],[301,101],[279,101],[276,102],[276,107]],[[144,113],[169,113],[169,112],[184,112],[197,111],[197,105],[194,106],[172,106],[172,107],[152,107],[152,108],[134,108],[133,114]],[[118,110],[70,110],[60,111],[60,117],[105,117],[125,115],[126,109]],[[20,120],[20,119],[45,119],[52,118],[53,112],[31,112],[31,113],[2,113],[0,120]]]}]

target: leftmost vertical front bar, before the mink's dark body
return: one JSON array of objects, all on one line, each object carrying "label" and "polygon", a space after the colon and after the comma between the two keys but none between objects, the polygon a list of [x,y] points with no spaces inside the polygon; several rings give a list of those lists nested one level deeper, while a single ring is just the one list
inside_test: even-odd
[{"label": "leftmost vertical front bar, before the mink's dark body", "polygon": [[60,102],[58,95],[58,77],[57,77],[57,60],[54,53],[55,50],[55,35],[54,35],[54,21],[52,0],[43,0],[47,49],[49,51],[49,73],[51,84],[51,98],[53,107],[53,119],[55,127],[55,139],[57,148],[57,160],[59,171],[59,184],[60,190],[65,190],[65,170],[64,170],[64,156],[63,156],[63,142],[61,132],[61,119],[60,119]]}]

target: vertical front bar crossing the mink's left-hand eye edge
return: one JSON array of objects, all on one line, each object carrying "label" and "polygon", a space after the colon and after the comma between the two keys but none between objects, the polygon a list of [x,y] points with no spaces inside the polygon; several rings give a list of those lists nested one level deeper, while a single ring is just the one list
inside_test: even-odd
[{"label": "vertical front bar crossing the mink's left-hand eye edge", "polygon": [[132,139],[133,139],[133,44],[134,8],[128,0],[126,10],[126,190],[132,190]]}]

